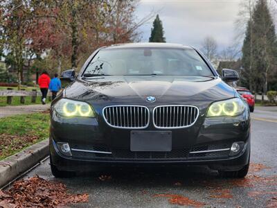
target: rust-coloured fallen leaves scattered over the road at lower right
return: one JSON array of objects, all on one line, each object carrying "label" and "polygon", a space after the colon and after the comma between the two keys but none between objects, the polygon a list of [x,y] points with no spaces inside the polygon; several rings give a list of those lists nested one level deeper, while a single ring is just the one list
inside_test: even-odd
[{"label": "rust-coloured fallen leaves scattered over the road at lower right", "polygon": [[[251,163],[249,167],[249,174],[244,178],[234,178],[228,179],[224,182],[224,184],[219,184],[214,180],[204,180],[199,181],[205,187],[208,188],[208,195],[207,198],[214,198],[217,202],[222,204],[225,203],[224,200],[226,199],[233,199],[232,189],[234,188],[251,188],[257,191],[248,191],[247,196],[253,198],[253,200],[257,200],[260,196],[267,195],[272,196],[270,200],[267,202],[267,207],[277,207],[277,191],[276,189],[271,189],[269,187],[276,187],[277,185],[277,175],[270,176],[270,177],[262,177],[260,175],[256,175],[257,172],[262,171],[264,169],[269,169],[270,167],[265,166],[264,164],[256,164]],[[195,181],[195,184],[198,182]],[[175,186],[182,186],[180,182],[176,182]],[[265,189],[269,189],[265,191]],[[192,200],[187,196],[176,195],[172,193],[159,193],[154,195],[153,197],[162,197],[168,198],[168,202],[172,205],[183,205],[183,206],[190,206],[190,207],[205,207],[205,203],[196,200]],[[240,206],[239,206],[240,207]]]}]

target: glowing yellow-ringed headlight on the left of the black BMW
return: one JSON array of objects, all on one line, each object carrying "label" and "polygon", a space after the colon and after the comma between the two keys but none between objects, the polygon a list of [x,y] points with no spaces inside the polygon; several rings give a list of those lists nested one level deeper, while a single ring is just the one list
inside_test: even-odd
[{"label": "glowing yellow-ringed headlight on the left of the black BMW", "polygon": [[80,101],[72,101],[69,99],[61,99],[57,101],[53,106],[54,110],[62,116],[83,116],[83,117],[95,117],[93,109],[87,103]]}]

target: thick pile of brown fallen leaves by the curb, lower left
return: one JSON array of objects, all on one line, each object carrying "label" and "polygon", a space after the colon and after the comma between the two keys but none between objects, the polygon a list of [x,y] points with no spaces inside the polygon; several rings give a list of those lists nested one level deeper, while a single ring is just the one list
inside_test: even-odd
[{"label": "thick pile of brown fallen leaves by the curb, lower left", "polygon": [[8,191],[0,190],[0,207],[62,207],[88,198],[87,193],[74,195],[60,182],[35,176],[15,182]]}]

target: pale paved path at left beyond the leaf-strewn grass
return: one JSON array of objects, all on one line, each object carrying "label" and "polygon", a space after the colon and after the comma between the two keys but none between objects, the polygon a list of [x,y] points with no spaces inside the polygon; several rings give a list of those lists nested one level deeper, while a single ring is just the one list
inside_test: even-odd
[{"label": "pale paved path at left beyond the leaf-strewn grass", "polygon": [[46,105],[17,105],[0,107],[0,118],[16,114],[32,114],[34,112],[48,110],[49,108],[50,103],[47,103]]}]

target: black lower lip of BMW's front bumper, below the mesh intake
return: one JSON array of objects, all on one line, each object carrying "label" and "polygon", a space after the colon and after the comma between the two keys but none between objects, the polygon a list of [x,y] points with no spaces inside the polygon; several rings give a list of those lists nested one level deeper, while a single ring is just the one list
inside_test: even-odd
[{"label": "black lower lip of BMW's front bumper, below the mesh intake", "polygon": [[76,159],[66,157],[55,148],[50,140],[51,162],[60,171],[91,171],[95,166],[210,166],[216,170],[238,171],[249,162],[250,138],[244,148],[233,157],[183,158],[172,160],[119,160],[119,159]]}]

